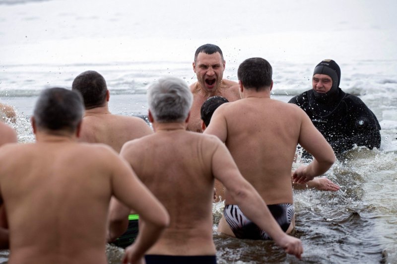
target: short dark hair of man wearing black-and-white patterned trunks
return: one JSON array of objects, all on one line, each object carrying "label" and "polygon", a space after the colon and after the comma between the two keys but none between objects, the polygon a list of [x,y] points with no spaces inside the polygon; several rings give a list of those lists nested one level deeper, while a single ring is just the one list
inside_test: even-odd
[{"label": "short dark hair of man wearing black-and-white patterned trunks", "polygon": [[250,58],[240,64],[237,77],[247,89],[263,90],[271,85],[271,65],[262,58]]}]

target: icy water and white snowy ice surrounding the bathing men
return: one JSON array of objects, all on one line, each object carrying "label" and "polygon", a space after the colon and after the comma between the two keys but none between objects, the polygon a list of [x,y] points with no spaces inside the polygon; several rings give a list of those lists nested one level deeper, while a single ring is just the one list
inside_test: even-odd
[{"label": "icy water and white snowy ice surrounding the bathing men", "polygon": [[[326,174],[341,190],[295,191],[302,261],[271,241],[216,233],[218,263],[397,263],[397,19],[395,1],[0,0],[0,102],[18,113],[20,142],[39,92],[70,87],[96,70],[111,91],[115,114],[147,114],[145,87],[173,75],[189,84],[194,51],[217,44],[224,78],[249,57],[273,66],[272,97],[288,101],[310,89],[314,67],[334,59],[340,87],[359,96],[380,121],[380,149],[356,147]],[[294,164],[294,168],[300,165]],[[218,219],[222,204],[214,205]],[[110,263],[120,252],[108,251]],[[0,260],[6,262],[7,251]]]}]

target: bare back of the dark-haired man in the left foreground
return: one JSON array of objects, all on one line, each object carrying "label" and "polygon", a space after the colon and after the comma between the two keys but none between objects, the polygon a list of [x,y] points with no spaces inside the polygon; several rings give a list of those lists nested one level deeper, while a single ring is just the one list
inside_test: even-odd
[{"label": "bare back of the dark-haired man in the left foreground", "polygon": [[0,160],[7,164],[0,169],[0,187],[10,231],[9,263],[107,263],[112,158],[103,146],[8,145]]}]

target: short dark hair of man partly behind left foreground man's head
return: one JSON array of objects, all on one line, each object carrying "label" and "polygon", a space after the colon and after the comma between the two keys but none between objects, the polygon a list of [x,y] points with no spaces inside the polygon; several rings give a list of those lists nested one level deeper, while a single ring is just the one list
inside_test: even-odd
[{"label": "short dark hair of man partly behind left foreground man's head", "polygon": [[85,109],[104,106],[106,103],[108,87],[105,78],[94,70],[87,70],[77,75],[71,89],[81,93]]}]

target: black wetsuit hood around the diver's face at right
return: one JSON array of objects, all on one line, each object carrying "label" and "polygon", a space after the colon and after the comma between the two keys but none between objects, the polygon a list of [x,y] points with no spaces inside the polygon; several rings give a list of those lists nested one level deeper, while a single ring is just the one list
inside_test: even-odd
[{"label": "black wetsuit hood around the diver's face at right", "polygon": [[326,74],[332,79],[332,87],[328,92],[319,93],[313,89],[313,94],[316,99],[328,100],[328,98],[333,97],[333,95],[337,93],[340,83],[339,66],[332,60],[324,60],[314,68],[313,76],[315,74]]}]

